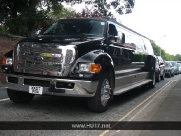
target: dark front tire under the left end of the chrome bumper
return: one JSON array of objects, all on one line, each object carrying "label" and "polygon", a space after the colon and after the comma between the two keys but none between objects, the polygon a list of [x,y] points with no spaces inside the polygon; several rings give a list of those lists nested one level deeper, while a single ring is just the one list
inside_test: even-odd
[{"label": "dark front tire under the left end of the chrome bumper", "polygon": [[11,89],[7,89],[7,93],[10,100],[14,103],[28,103],[35,96],[34,94],[30,94],[28,92],[20,92]]}]

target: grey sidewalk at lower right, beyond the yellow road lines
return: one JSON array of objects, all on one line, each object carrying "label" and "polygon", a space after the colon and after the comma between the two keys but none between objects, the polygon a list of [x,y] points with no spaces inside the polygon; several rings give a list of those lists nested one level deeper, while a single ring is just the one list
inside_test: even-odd
[{"label": "grey sidewalk at lower right, beyond the yellow road lines", "polygon": [[[181,80],[172,88],[150,121],[181,122]],[[139,136],[181,136],[181,130],[145,130]]]}]

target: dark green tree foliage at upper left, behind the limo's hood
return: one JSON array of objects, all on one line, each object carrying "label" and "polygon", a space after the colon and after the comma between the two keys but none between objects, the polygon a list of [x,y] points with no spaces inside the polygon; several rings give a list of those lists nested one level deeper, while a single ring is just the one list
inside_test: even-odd
[{"label": "dark green tree foliage at upper left, behind the limo's hood", "polygon": [[38,28],[54,22],[62,12],[69,13],[57,0],[0,0],[0,5],[2,33],[21,36],[32,36]]}]

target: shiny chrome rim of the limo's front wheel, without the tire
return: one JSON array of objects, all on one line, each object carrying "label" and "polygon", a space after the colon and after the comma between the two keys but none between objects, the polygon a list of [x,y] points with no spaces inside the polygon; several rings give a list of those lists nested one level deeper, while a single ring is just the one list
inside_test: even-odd
[{"label": "shiny chrome rim of the limo's front wheel, without the tire", "polygon": [[101,103],[103,106],[106,106],[110,99],[110,94],[111,94],[111,88],[110,88],[110,83],[107,79],[105,79],[101,85]]}]

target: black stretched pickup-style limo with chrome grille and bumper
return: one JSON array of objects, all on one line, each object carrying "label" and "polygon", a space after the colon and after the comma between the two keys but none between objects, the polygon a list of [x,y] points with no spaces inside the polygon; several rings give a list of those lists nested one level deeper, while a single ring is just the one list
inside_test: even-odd
[{"label": "black stretched pickup-style limo with chrome grille and bumper", "polygon": [[60,19],[21,40],[2,58],[0,81],[11,101],[34,95],[86,97],[104,112],[114,95],[155,86],[149,39],[110,18]]}]

